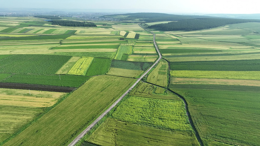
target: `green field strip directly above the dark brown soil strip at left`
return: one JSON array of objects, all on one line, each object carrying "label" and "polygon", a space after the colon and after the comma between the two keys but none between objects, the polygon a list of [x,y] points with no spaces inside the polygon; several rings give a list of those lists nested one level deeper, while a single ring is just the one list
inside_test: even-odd
[{"label": "green field strip directly above the dark brown soil strip at left", "polygon": [[14,74],[1,82],[80,87],[89,78],[78,75]]}]

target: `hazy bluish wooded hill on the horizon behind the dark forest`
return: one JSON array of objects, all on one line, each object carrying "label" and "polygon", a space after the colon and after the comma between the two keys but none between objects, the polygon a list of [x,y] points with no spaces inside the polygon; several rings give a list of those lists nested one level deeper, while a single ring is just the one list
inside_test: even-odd
[{"label": "hazy bluish wooded hill on the horizon behind the dark forest", "polygon": [[121,21],[138,21],[138,22],[157,22],[157,21],[178,21],[183,19],[194,18],[213,18],[209,16],[187,16],[187,15],[173,15],[164,13],[129,13],[129,14],[116,14],[105,15],[101,18],[114,18]]}]

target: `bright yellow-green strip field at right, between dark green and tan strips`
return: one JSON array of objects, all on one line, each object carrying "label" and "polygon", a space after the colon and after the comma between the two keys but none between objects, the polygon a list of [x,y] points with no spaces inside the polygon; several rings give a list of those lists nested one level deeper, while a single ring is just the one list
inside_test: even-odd
[{"label": "bright yellow-green strip field at right, between dark green and tan strips", "polygon": [[224,78],[260,80],[258,71],[170,71],[171,76],[181,78]]}]

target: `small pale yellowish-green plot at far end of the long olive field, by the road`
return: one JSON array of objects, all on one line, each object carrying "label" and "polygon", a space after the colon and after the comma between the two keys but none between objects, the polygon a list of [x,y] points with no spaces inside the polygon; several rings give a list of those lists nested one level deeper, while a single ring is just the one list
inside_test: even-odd
[{"label": "small pale yellowish-green plot at far end of the long olive field, by the road", "polygon": [[140,76],[141,73],[143,73],[143,71],[110,68],[110,70],[106,74],[136,78],[136,77]]}]

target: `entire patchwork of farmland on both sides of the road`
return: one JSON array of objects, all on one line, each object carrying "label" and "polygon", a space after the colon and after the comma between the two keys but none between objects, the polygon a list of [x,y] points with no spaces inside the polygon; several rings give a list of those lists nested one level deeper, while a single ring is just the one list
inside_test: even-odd
[{"label": "entire patchwork of farmland on both sides of the road", "polygon": [[[158,58],[153,35],[139,24],[93,22],[0,17],[0,86],[19,87],[0,88],[0,145],[68,145]],[[201,139],[205,146],[257,146],[259,26],[150,29],[163,59],[83,145],[199,146]]]}]

